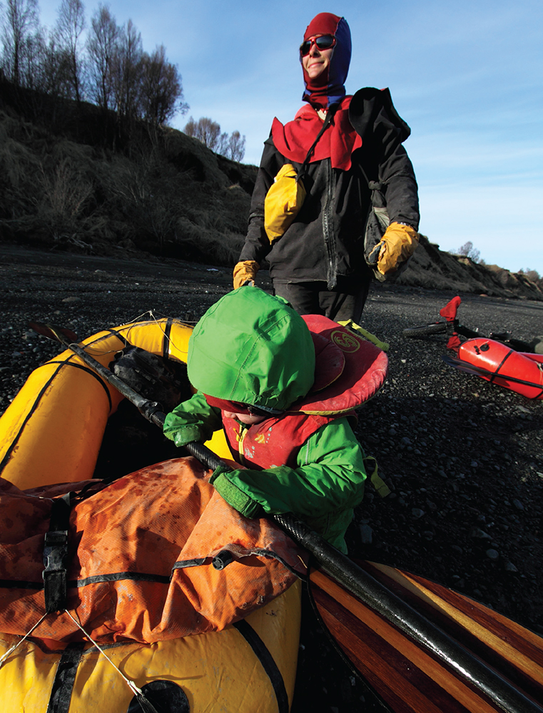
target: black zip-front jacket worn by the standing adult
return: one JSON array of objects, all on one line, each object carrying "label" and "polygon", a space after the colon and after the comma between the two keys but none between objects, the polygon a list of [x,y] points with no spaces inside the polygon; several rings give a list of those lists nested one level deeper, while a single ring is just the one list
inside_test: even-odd
[{"label": "black zip-front jacket worn by the standing adult", "polygon": [[[281,166],[293,163],[265,141],[241,260],[266,258],[275,282],[323,280],[333,289],[340,275],[370,279],[365,255],[380,239],[366,227],[372,205],[386,206],[390,222],[418,229],[417,183],[402,141],[410,129],[395,112],[388,90],[361,89],[352,98],[350,122],[362,136],[347,171],[332,168],[330,158],[309,163],[303,177],[305,201],[285,234],[270,245],[264,230],[264,199]],[[300,169],[301,164],[295,168]],[[369,185],[368,185],[369,184]],[[375,224],[375,215],[371,215]],[[375,225],[370,228],[375,233]],[[372,232],[370,230],[370,232]]]}]

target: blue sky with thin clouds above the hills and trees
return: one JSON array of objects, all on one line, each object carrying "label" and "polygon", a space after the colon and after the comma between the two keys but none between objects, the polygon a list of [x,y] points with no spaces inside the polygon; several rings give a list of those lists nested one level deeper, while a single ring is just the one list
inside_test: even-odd
[{"label": "blue sky with thin clouds above the hills and trees", "polygon": [[[84,1],[84,0],[83,0]],[[60,0],[39,0],[52,26]],[[293,118],[303,91],[298,46],[321,11],[345,16],[347,92],[388,86],[412,129],[420,232],[442,250],[471,240],[488,264],[543,275],[543,3],[541,0],[110,0],[143,46],[178,65],[185,117],[246,137],[260,162],[273,116]],[[98,6],[87,1],[86,16]]]}]

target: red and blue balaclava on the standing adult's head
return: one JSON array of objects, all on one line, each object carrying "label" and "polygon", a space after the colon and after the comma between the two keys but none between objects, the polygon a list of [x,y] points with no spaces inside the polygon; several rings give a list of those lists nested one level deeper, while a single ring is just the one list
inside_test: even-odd
[{"label": "red and blue balaclava on the standing adult's head", "polygon": [[351,57],[350,29],[344,17],[320,12],[308,24],[303,39],[305,41],[315,35],[333,35],[335,47],[330,66],[315,79],[311,79],[302,66],[305,82],[302,98],[316,108],[325,108],[340,102],[345,96],[345,80]]}]

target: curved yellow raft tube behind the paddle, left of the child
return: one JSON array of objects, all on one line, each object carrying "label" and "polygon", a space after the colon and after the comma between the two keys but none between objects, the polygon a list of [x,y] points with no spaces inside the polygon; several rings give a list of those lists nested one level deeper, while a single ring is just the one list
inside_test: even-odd
[{"label": "curved yellow raft tube behind the paddle, left of the child", "polygon": [[[191,332],[176,319],[149,320],[81,345],[103,366],[127,344],[186,362]],[[122,398],[69,349],[42,364],[0,419],[2,477],[21,490],[92,478],[108,417]]]}]

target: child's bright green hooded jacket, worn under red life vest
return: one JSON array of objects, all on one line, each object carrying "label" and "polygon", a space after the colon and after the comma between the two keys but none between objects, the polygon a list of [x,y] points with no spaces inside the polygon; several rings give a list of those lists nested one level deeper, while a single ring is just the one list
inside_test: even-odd
[{"label": "child's bright green hooded jacket, worn under red life vest", "polygon": [[[313,385],[315,349],[288,302],[248,286],[226,294],[204,314],[191,335],[187,363],[198,392],[164,424],[164,434],[178,446],[208,440],[222,427],[220,410],[203,394],[288,409]],[[305,441],[296,468],[218,469],[210,482],[246,517],[295,513],[345,552],[345,530],[364,494],[363,458],[347,419],[338,418]]]}]

